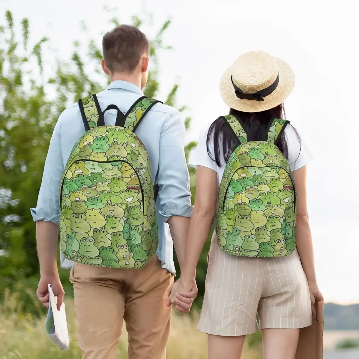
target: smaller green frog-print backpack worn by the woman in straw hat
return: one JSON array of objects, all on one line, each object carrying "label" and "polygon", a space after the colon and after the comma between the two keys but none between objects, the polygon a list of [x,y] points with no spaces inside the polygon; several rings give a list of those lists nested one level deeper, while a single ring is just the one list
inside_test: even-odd
[{"label": "smaller green frog-print backpack worn by the woman in straw hat", "polygon": [[235,116],[222,117],[238,139],[219,187],[220,248],[243,257],[283,257],[296,246],[296,192],[288,160],[276,144],[289,121],[272,119],[266,141],[247,141]]}]

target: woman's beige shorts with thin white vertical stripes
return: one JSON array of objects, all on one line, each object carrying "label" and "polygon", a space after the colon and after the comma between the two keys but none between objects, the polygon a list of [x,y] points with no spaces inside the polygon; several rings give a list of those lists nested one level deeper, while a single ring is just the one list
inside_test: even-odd
[{"label": "woman's beige shorts with thin white vertical stripes", "polygon": [[200,331],[234,336],[311,324],[309,288],[297,250],[282,258],[237,257],[224,253],[213,234]]}]

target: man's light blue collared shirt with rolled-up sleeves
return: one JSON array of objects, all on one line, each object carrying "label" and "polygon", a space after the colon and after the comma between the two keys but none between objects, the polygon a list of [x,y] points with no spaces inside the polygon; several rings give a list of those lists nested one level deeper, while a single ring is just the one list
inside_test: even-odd
[{"label": "man's light blue collared shirt with rolled-up sleeves", "polygon": [[[136,85],[118,80],[97,94],[102,111],[109,104],[115,104],[122,113],[126,113],[141,96],[143,92]],[[116,114],[116,110],[106,111],[106,125],[115,125]],[[37,206],[31,209],[35,221],[59,224],[61,175],[73,146],[84,133],[80,109],[75,103],[61,113],[53,130]],[[180,112],[162,103],[155,104],[136,129],[136,135],[149,154],[153,183],[158,183],[160,188],[156,201],[159,235],[156,253],[162,267],[173,274],[173,243],[167,221],[172,215],[192,215],[190,180],[184,151],[185,134]],[[60,255],[61,267],[70,268],[73,262],[67,260],[61,251]]]}]

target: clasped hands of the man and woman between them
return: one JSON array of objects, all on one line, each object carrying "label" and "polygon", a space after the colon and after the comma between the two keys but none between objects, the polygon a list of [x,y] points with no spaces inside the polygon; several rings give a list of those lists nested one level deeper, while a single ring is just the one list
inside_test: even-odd
[{"label": "clasped hands of the man and woman between them", "polygon": [[197,293],[198,288],[195,278],[189,284],[180,278],[168,290],[166,305],[169,307],[174,304],[179,312],[189,313]]}]

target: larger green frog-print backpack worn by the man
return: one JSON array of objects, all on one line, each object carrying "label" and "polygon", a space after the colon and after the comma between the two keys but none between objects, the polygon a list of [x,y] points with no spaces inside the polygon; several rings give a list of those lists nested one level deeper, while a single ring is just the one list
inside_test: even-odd
[{"label": "larger green frog-print backpack worn by the man", "polygon": [[[124,115],[101,112],[96,95],[79,100],[84,135],[67,161],[60,186],[60,244],[72,261],[140,268],[158,246],[149,155],[135,130],[159,101],[141,97]],[[115,126],[104,112],[116,109]]]}]

